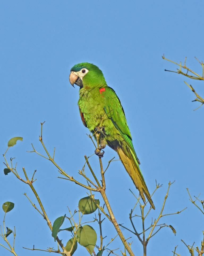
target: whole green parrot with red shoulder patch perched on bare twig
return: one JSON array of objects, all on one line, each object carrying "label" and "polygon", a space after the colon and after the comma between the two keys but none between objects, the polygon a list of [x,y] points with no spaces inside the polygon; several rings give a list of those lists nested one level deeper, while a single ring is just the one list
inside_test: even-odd
[{"label": "whole green parrot with red shoulder patch perched on bare twig", "polygon": [[[135,153],[125,113],[115,91],[107,86],[102,71],[91,63],[79,63],[71,68],[69,80],[79,89],[79,112],[83,124],[98,136],[99,148],[95,153],[103,157],[101,149],[108,145],[114,149],[126,171],[139,190],[142,200],[145,196],[155,209],[145,180],[139,168],[139,159]],[[144,196],[145,194],[145,196]]]}]

